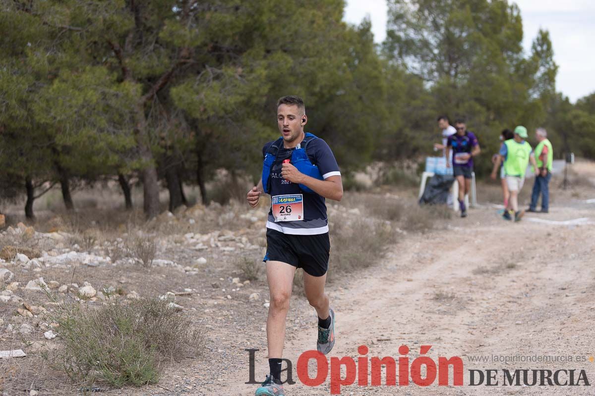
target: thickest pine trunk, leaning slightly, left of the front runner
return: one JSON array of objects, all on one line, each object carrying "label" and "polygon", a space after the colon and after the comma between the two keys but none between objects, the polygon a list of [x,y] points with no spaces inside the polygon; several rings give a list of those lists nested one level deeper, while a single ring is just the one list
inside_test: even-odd
[{"label": "thickest pine trunk, leaning slightly, left of the front runner", "polygon": [[143,178],[143,210],[147,218],[153,218],[159,214],[159,179],[146,131],[143,103],[137,104],[136,121],[136,144],[140,159],[145,163],[141,173]]}]

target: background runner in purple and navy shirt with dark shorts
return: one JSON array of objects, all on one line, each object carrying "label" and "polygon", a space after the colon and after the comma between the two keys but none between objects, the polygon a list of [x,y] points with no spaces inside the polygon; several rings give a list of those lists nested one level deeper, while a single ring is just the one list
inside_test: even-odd
[{"label": "background runner in purple and navy shirt with dark shorts", "polygon": [[467,217],[465,207],[465,195],[471,190],[471,178],[473,173],[473,157],[481,152],[477,137],[471,131],[467,131],[464,119],[455,121],[456,134],[450,135],[446,143],[446,166],[450,167],[450,150],[452,150],[452,172],[459,183],[459,207],[461,217]]}]

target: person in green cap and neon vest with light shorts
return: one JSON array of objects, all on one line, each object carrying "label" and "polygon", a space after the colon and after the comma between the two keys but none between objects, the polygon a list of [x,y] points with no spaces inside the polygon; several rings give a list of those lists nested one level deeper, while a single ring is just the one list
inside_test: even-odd
[{"label": "person in green cap and neon vest with light shorts", "polygon": [[504,160],[504,173],[510,194],[508,206],[502,215],[505,220],[512,220],[511,211],[515,216],[515,221],[521,221],[525,214],[524,210],[519,211],[518,195],[525,183],[525,172],[527,172],[529,161],[531,161],[535,172],[538,173],[533,149],[525,140],[527,137],[527,128],[522,125],[517,126],[515,128],[515,137],[504,142],[500,148],[496,164],[494,164],[494,169],[491,171],[491,178],[496,180],[496,169]]}]

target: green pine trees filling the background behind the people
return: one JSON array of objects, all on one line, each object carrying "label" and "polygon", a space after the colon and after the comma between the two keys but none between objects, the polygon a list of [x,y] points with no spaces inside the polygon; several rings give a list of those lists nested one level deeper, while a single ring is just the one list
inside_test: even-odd
[{"label": "green pine trees filling the background behind the people", "polygon": [[[308,130],[346,172],[431,152],[436,116],[464,116],[496,151],[503,128],[545,126],[595,157],[595,96],[555,90],[549,33],[522,49],[506,0],[390,0],[387,39],[342,21],[343,0],[1,0],[0,198],[130,179],[143,209],[186,204],[215,169],[258,178],[275,102],[306,101]],[[486,161],[486,168],[487,168]],[[481,168],[480,168],[481,173]]]}]

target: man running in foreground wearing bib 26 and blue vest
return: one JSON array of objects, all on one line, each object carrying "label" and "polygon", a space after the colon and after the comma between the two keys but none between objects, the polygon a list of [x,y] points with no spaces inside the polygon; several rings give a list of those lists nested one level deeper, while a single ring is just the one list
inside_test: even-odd
[{"label": "man running in foreground wearing bib 26 and blue vest", "polygon": [[[303,100],[284,96],[277,102],[281,137],[262,148],[262,178],[248,192],[250,206],[261,194],[271,195],[267,221],[267,281],[271,305],[267,319],[270,373],[256,396],[284,395],[281,356],[285,320],[292,295],[293,276],[303,268],[308,302],[318,315],[317,350],[327,354],[334,346],[334,312],[324,292],[330,240],[325,198],[340,201],[343,183],[339,166],[326,142],[303,131],[308,118]],[[314,165],[313,165],[314,164]]]}]

